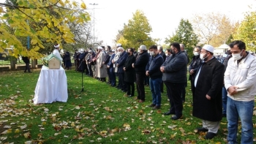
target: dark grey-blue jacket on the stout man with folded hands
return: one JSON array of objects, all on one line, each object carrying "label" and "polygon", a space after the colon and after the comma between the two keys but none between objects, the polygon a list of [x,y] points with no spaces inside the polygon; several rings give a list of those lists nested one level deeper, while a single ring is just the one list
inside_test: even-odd
[{"label": "dark grey-blue jacket on the stout man with folded hands", "polygon": [[187,83],[187,56],[185,53],[178,52],[173,54],[161,67],[165,67],[162,81]]}]

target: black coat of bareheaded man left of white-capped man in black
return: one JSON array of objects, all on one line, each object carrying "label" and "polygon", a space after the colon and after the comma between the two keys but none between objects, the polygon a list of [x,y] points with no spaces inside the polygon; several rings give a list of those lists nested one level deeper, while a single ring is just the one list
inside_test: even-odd
[{"label": "black coat of bareheaded man left of white-capped man in black", "polygon": [[132,67],[132,64],[136,61],[135,56],[128,56],[127,61],[125,61],[124,67],[124,81],[128,83],[135,82],[135,69]]}]

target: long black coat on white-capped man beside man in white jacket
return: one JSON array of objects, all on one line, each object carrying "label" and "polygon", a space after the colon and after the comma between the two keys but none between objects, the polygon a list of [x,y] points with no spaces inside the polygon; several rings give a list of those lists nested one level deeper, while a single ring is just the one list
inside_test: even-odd
[{"label": "long black coat on white-capped man beside man in white jacket", "polygon": [[[206,121],[222,120],[224,65],[216,58],[203,63],[193,99],[193,116]],[[197,74],[196,74],[197,75]],[[206,94],[211,99],[206,99]]]}]

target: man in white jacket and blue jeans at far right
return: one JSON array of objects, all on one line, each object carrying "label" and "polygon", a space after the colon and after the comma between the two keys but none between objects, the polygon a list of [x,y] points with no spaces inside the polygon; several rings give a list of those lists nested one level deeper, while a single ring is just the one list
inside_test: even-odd
[{"label": "man in white jacket and blue jeans at far right", "polygon": [[246,51],[240,40],[230,43],[232,58],[227,63],[225,88],[227,89],[227,141],[237,142],[238,118],[241,121],[241,143],[253,143],[253,109],[256,95],[256,59]]}]

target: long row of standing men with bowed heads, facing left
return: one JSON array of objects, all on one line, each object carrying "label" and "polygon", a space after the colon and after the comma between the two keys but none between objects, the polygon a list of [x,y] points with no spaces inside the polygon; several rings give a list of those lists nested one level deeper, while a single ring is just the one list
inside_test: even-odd
[{"label": "long row of standing men with bowed heads, facing left", "polygon": [[[134,82],[136,81],[138,102],[145,101],[143,79],[145,75],[150,77],[152,104],[149,106],[153,109],[161,107],[161,83],[165,83],[170,110],[164,114],[173,114],[171,119],[177,120],[182,117],[183,99],[181,97],[187,84],[189,61],[186,53],[181,50],[182,47],[184,45],[172,43],[169,50],[171,55],[166,60],[163,58],[166,52],[162,55],[161,48],[157,48],[156,45],[152,45],[148,49],[150,56],[148,56],[146,46],[141,45],[138,49],[138,56],[135,57],[134,49],[129,48],[126,52],[119,44],[116,51],[110,50],[110,48],[104,51],[102,47],[97,48],[97,53],[89,50],[89,54],[84,59],[89,69],[89,75],[105,81],[108,74],[111,86],[116,86],[117,74],[117,87],[127,92],[129,97],[134,96]],[[253,77],[256,78],[256,61],[254,56],[245,51],[244,42],[234,41],[230,44],[230,49],[232,55],[227,57],[226,64],[222,64],[214,57],[214,48],[211,45],[204,45],[203,48],[195,47],[193,51],[195,56],[189,66],[189,80],[191,80],[193,96],[192,115],[202,119],[203,127],[197,128],[197,131],[207,132],[206,139],[216,136],[223,114],[227,115],[229,132],[227,140],[229,143],[237,143],[236,132],[239,117],[242,121],[241,142],[253,143],[252,113],[256,88],[254,84],[250,83],[250,80]],[[108,62],[105,61],[107,55],[109,56]],[[80,64],[78,62],[77,66]],[[241,69],[243,67],[248,67],[248,69]],[[239,75],[241,76],[239,77]],[[222,88],[226,94],[222,94]],[[236,99],[237,96],[239,99]],[[227,99],[226,102],[223,100],[223,110],[222,97]],[[236,102],[239,105],[236,105]],[[246,110],[245,107],[247,107]],[[241,110],[244,111],[241,112]],[[222,113],[222,111],[227,112]]]}]

